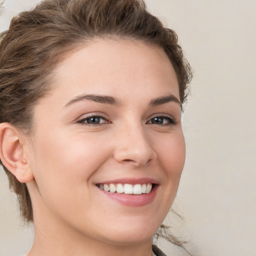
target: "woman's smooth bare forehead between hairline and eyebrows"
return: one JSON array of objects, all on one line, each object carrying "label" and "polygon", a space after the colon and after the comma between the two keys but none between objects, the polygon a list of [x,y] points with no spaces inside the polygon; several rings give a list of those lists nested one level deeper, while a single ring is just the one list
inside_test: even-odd
[{"label": "woman's smooth bare forehead between hairline and eyebrows", "polygon": [[53,77],[55,99],[82,93],[142,97],[141,91],[179,98],[175,71],[164,50],[137,40],[84,43],[64,55]]}]

